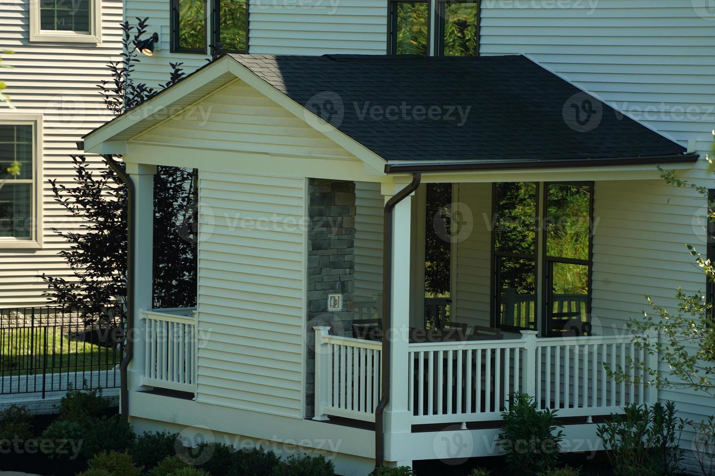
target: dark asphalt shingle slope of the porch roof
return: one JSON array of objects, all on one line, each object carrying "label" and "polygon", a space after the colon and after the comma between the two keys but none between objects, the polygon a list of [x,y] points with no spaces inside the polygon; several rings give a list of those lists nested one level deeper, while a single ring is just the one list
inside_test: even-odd
[{"label": "dark asphalt shingle slope of the porch roof", "polygon": [[525,56],[231,56],[388,161],[686,153]]}]

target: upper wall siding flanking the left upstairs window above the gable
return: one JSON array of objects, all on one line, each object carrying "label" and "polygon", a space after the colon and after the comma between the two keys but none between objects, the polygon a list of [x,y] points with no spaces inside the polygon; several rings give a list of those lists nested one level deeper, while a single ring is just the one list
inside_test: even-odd
[{"label": "upper wall siding flanking the left upstairs window above the gable", "polygon": [[[210,2],[209,2],[210,4]],[[181,61],[190,73],[210,56],[171,53],[169,0],[126,0],[126,18],[149,17],[148,33],[156,31],[161,49],[142,57],[134,78],[156,86],[165,83],[169,62]],[[250,54],[385,54],[385,0],[250,0]],[[210,43],[210,40],[209,40]]]}]

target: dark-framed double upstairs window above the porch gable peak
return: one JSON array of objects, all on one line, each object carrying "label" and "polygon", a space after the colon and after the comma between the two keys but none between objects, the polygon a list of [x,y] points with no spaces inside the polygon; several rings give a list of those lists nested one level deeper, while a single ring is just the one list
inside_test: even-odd
[{"label": "dark-framed double upstairs window above the porch gable peak", "polygon": [[207,15],[207,0],[172,0],[172,51],[207,54],[210,44],[246,53],[248,0],[211,0],[210,5]]}]

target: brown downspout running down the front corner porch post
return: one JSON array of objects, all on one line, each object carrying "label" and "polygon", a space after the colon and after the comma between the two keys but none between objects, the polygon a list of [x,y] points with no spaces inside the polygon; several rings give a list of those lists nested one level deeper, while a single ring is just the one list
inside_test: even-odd
[{"label": "brown downspout running down the front corner porch post", "polygon": [[383,353],[382,353],[382,379],[380,402],[375,408],[375,467],[385,464],[385,421],[383,419],[385,407],[390,402],[390,328],[392,328],[392,315],[390,310],[393,305],[392,280],[393,280],[393,209],[406,197],[420,186],[422,174],[415,172],[410,185],[400,190],[385,204],[383,216]]}]

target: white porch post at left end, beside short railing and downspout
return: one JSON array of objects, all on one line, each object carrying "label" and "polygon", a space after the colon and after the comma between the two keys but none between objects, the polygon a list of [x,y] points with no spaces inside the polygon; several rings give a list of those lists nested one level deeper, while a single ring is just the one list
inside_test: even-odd
[{"label": "white porch post at left end, beside short railing and downspout", "polygon": [[142,385],[144,375],[144,321],[142,310],[152,308],[153,228],[154,228],[154,174],[157,166],[143,163],[127,163],[127,173],[134,182],[134,358],[129,365],[129,390]]}]

